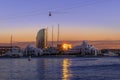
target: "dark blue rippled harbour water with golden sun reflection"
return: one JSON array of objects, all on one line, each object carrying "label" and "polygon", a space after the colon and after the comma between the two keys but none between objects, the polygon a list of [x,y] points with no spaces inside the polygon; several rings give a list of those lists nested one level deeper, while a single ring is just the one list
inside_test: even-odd
[{"label": "dark blue rippled harbour water with golden sun reflection", "polygon": [[120,57],[4,58],[0,80],[120,80]]}]

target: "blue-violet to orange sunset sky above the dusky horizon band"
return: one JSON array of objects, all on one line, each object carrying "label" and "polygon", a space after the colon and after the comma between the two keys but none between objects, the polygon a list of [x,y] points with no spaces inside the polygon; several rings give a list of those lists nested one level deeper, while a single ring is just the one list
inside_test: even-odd
[{"label": "blue-violet to orange sunset sky above the dusky horizon band", "polygon": [[[0,43],[35,41],[60,24],[61,40],[120,40],[120,0],[0,0]],[[52,16],[48,16],[49,11]]]}]

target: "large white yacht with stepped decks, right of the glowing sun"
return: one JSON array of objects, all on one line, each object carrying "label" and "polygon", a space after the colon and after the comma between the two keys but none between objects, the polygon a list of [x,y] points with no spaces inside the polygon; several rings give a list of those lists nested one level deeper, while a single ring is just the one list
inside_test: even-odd
[{"label": "large white yacht with stepped decks, right of the glowing sun", "polygon": [[87,41],[83,41],[81,45],[75,46],[70,50],[66,51],[65,54],[72,54],[72,55],[94,55],[97,56],[101,54],[100,51],[94,47],[93,45],[89,45]]}]

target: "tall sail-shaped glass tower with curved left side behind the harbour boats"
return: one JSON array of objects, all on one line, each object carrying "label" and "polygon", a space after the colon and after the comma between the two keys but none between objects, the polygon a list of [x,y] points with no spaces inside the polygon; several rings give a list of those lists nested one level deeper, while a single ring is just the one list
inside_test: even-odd
[{"label": "tall sail-shaped glass tower with curved left side behind the harbour boats", "polygon": [[46,28],[38,31],[36,36],[36,47],[41,49],[47,47],[47,29]]}]

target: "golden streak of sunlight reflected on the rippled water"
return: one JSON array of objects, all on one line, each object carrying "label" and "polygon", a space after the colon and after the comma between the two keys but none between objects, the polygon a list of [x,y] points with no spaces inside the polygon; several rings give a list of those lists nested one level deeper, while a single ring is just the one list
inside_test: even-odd
[{"label": "golden streak of sunlight reflected on the rippled water", "polygon": [[64,59],[63,60],[63,63],[62,63],[62,66],[63,66],[62,79],[63,80],[69,80],[70,77],[72,76],[72,74],[70,73],[70,69],[69,69],[70,65],[71,65],[71,61],[69,59]]}]

